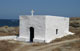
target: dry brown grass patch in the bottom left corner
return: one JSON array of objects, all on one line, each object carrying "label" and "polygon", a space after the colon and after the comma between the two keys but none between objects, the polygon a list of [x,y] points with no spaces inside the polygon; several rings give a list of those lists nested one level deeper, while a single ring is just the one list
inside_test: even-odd
[{"label": "dry brown grass patch in the bottom left corner", "polygon": [[19,44],[9,43],[8,41],[0,41],[0,51],[12,51],[14,50]]}]

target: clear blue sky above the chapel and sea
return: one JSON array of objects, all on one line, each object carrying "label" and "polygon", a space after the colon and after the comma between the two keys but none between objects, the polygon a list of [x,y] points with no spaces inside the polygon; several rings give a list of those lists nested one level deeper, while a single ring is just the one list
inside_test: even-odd
[{"label": "clear blue sky above the chapel and sea", "polygon": [[19,19],[20,15],[80,17],[80,0],[0,0],[0,19]]}]

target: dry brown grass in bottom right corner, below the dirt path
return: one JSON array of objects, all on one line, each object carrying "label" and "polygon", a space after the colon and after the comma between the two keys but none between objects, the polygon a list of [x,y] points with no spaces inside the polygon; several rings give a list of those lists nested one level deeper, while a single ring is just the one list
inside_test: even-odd
[{"label": "dry brown grass in bottom right corner, below the dirt path", "polygon": [[52,51],[80,51],[80,41],[66,43]]}]

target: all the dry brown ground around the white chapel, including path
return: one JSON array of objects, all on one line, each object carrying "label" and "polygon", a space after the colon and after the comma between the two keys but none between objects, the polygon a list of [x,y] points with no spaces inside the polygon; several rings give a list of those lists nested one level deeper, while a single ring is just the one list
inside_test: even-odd
[{"label": "all the dry brown ground around the white chapel, including path", "polygon": [[[0,41],[0,51],[80,51],[80,18],[70,18],[74,35],[55,39],[51,43],[25,43],[15,40]],[[18,35],[18,27],[0,27],[0,36]]]}]

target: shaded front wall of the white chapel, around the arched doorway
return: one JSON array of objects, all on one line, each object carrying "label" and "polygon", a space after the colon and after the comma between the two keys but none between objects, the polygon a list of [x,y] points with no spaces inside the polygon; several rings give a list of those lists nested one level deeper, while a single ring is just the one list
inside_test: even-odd
[{"label": "shaded front wall of the white chapel, around the arched doorway", "polygon": [[45,16],[20,16],[19,40],[30,41],[30,27],[34,28],[34,41],[44,41]]}]

